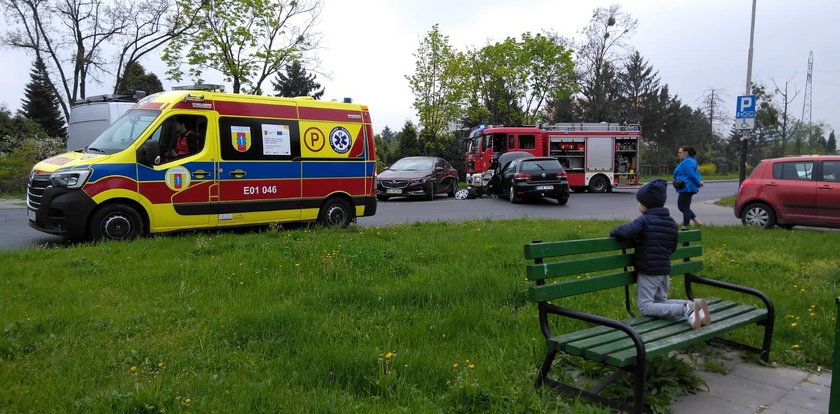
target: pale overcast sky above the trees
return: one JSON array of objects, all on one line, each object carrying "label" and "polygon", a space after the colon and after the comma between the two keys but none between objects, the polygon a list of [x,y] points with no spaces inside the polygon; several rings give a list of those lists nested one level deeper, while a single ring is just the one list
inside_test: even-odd
[{"label": "pale overcast sky above the trees", "polygon": [[[322,35],[317,80],[323,99],[350,97],[370,107],[374,130],[416,122],[413,96],[405,79],[414,71],[420,40],[439,24],[459,49],[519,38],[543,30],[580,39],[597,7],[617,1],[558,0],[325,0],[318,31]],[[723,93],[725,113],[745,92],[749,49],[750,0],[624,0],[622,10],[638,20],[630,45],[659,71],[662,84],[683,103],[698,107],[709,90]],[[774,89],[788,82],[798,95],[789,111],[802,116],[808,54],[814,53],[813,122],[840,129],[840,1],[758,0],[752,80]],[[32,58],[2,49],[0,104],[17,110],[29,80]],[[165,68],[142,62],[163,78]],[[329,75],[329,77],[327,77]],[[224,83],[221,77],[205,79]],[[107,83],[110,85],[112,81]],[[164,86],[174,83],[164,79]],[[228,85],[230,86],[230,85]],[[230,89],[230,88],[228,88]],[[88,95],[108,93],[89,86]],[[808,115],[805,115],[807,119]],[[573,121],[573,120],[569,120]]]}]

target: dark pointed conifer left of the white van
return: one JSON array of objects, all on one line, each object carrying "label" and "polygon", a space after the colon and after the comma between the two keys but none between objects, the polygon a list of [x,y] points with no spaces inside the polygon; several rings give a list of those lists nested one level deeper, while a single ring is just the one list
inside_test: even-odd
[{"label": "dark pointed conifer left of the white van", "polygon": [[65,138],[67,128],[59,109],[55,87],[47,75],[47,68],[40,57],[32,63],[30,80],[24,89],[20,114],[37,122],[51,137]]}]

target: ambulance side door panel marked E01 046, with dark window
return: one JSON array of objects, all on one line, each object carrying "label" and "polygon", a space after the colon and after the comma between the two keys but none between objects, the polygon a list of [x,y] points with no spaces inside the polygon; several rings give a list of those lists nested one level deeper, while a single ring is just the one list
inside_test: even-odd
[{"label": "ambulance side door panel marked E01 046, with dark window", "polygon": [[222,116],[218,136],[218,224],[299,219],[298,122]]}]

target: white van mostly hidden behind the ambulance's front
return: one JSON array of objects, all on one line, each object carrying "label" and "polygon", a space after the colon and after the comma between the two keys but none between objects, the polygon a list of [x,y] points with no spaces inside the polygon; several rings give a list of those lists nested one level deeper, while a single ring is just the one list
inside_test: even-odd
[{"label": "white van mostly hidden behind the ambulance's front", "polygon": [[70,108],[67,151],[88,146],[144,96],[144,92],[137,91],[133,95],[91,96],[76,102]]}]

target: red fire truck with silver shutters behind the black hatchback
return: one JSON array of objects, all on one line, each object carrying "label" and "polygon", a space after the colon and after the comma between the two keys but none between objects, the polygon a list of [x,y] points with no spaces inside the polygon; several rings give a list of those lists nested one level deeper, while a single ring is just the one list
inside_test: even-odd
[{"label": "red fire truck with silver shutters behind the black hatchback", "polygon": [[639,182],[638,125],[562,123],[523,127],[486,126],[466,138],[467,184],[482,187],[499,155],[524,151],[555,157],[563,164],[575,191],[612,191],[618,184]]}]

